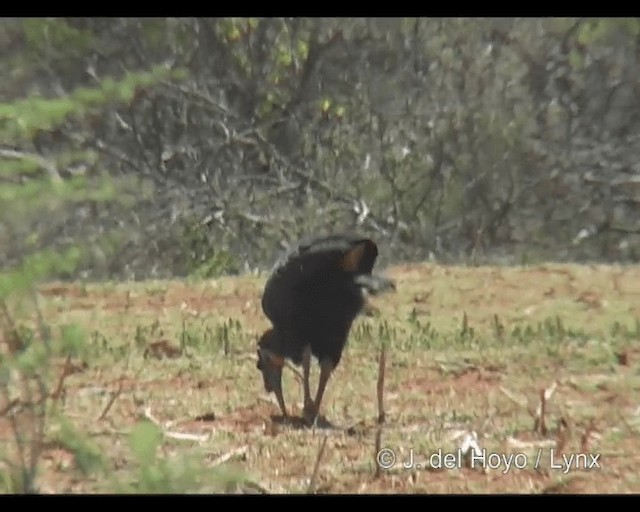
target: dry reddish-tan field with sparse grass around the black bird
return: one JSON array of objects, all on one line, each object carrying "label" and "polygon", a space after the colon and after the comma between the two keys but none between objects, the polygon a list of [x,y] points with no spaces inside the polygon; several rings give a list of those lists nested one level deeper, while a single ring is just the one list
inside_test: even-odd
[{"label": "dry reddish-tan field with sparse grass around the black bird", "polygon": [[[637,268],[425,264],[386,273],[397,279],[398,292],[371,299],[379,316],[357,320],[336,385],[327,391],[326,414],[336,428],[317,430],[271,419],[277,405],[264,394],[254,359],[256,336],[266,326],[259,309],[262,277],[42,285],[39,303],[52,319],[51,331],[77,325],[86,343],[67,361],[73,371],[56,409],[73,427],[48,425],[34,488],[640,489],[634,469],[640,414],[633,400],[640,388]],[[23,311],[20,321],[32,316]],[[379,429],[381,342],[387,349]],[[285,371],[284,379],[292,412],[300,414],[298,377]],[[4,414],[3,443],[11,440],[10,429]],[[381,448],[397,456],[387,470],[376,469],[372,456],[380,430]],[[481,471],[464,465],[445,470],[437,459],[420,459],[455,452],[468,432],[487,453],[524,455],[510,459],[506,472],[504,461]],[[600,468],[565,473],[551,466],[552,449],[556,465],[562,451],[601,454]],[[411,455],[424,467],[403,468]]]}]

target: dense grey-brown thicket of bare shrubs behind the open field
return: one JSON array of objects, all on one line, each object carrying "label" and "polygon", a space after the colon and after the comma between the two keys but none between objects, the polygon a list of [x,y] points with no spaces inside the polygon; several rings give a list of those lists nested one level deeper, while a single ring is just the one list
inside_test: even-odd
[{"label": "dense grey-brown thicket of bare shrubs behind the open field", "polygon": [[[636,19],[5,18],[0,42],[3,266],[80,243],[60,277],[235,273],[354,228],[394,261],[638,259]],[[42,176],[75,188],[34,212]]]}]

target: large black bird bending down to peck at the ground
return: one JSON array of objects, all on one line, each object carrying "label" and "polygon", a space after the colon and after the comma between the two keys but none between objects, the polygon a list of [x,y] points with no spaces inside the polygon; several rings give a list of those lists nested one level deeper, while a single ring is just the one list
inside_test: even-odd
[{"label": "large black bird bending down to peck at the ground", "polygon": [[[302,241],[279,260],[262,296],[272,328],[258,342],[258,369],[265,390],[274,392],[284,418],[282,395],[285,359],[302,365],[304,418],[315,422],[322,396],[347,342],[351,325],[370,294],[395,289],[395,283],[372,275],[378,247],[369,238],[330,235]],[[315,401],[311,401],[311,356],[320,364]]]}]

